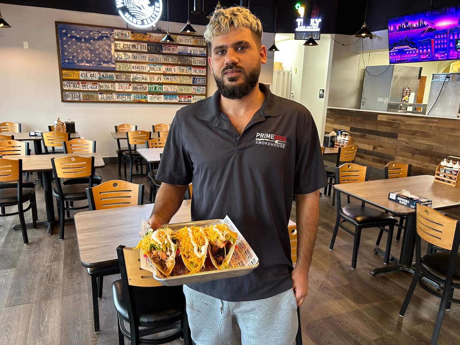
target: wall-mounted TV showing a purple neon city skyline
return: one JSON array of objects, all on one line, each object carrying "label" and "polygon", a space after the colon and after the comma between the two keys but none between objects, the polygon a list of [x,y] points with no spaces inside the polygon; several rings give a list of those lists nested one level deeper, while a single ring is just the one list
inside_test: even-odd
[{"label": "wall-mounted TV showing a purple neon city skyline", "polygon": [[460,5],[388,19],[390,63],[460,59]]}]

